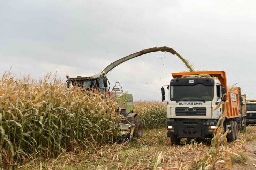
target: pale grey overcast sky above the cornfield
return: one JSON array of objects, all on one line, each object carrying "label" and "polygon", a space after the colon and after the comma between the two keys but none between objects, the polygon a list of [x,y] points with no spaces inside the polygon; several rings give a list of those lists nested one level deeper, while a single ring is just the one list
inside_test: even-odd
[{"label": "pale grey overcast sky above the cornfield", "polygon": [[[38,79],[49,72],[100,73],[110,63],[168,46],[196,71],[226,71],[228,86],[256,99],[256,1],[0,0],[0,67]],[[131,59],[108,73],[134,100],[161,100],[171,73],[189,71],[171,53]]]}]

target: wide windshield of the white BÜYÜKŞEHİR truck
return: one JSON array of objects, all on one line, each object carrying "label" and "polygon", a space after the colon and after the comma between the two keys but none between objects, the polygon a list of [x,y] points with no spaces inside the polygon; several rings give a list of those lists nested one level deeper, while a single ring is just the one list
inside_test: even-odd
[{"label": "wide windshield of the white B\u00dcY\u00dcK\u015eEH\u0130R truck", "polygon": [[171,86],[171,101],[212,101],[214,86]]}]

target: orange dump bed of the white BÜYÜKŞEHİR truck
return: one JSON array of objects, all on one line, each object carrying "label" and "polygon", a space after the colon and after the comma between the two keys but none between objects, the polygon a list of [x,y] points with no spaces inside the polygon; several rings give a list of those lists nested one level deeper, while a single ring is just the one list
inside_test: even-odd
[{"label": "orange dump bed of the white B\u00dcY\u00dcK\u015eEH\u0130R truck", "polygon": [[[173,78],[182,78],[187,76],[195,76],[200,74],[209,74],[211,77],[216,77],[220,83],[226,88],[229,102],[227,103],[226,118],[239,117],[239,94],[234,88],[229,89],[227,86],[227,78],[225,71],[195,71],[195,72],[180,72],[172,73]],[[224,110],[224,109],[223,109]]]}]

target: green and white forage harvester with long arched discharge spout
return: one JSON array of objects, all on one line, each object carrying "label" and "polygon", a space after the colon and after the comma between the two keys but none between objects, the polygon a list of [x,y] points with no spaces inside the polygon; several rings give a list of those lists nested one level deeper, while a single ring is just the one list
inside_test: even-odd
[{"label": "green and white forage harvester with long arched discharge spout", "polygon": [[[122,87],[120,86],[119,82],[113,87],[112,91],[110,91],[110,82],[107,78],[107,73],[111,71],[116,66],[120,65],[121,63],[133,59],[135,57],[141,56],[143,54],[151,53],[151,52],[170,52],[173,55],[178,54],[172,48],[163,46],[163,47],[153,47],[149,49],[144,49],[142,51],[130,54],[129,56],[123,57],[110,65],[108,65],[101,73],[89,76],[76,76],[76,77],[69,77],[67,74],[67,81],[66,86],[78,86],[83,88],[84,90],[90,90],[92,88],[96,88],[101,91],[101,93],[105,97],[111,97],[112,99],[116,99],[118,102],[118,108],[116,112],[123,115],[125,121],[116,124],[116,128],[120,128],[121,133],[119,134],[119,140],[132,141],[132,138],[135,137],[142,137],[143,135],[143,124],[141,119],[137,118],[138,113],[134,113],[133,107],[133,97],[131,94],[127,92],[123,92]],[[134,134],[135,132],[135,134]]]}]

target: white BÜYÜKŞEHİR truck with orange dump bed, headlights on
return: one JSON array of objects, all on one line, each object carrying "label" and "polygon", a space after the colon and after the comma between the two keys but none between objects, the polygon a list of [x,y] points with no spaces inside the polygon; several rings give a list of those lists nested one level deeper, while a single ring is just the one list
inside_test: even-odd
[{"label": "white B\u00dcY\u00dcK\u015eEH\u0130R truck with orange dump bed, headlights on", "polygon": [[246,128],[246,96],[241,95],[240,88],[228,88],[224,71],[172,73],[172,77],[170,84],[161,88],[162,101],[167,102],[167,137],[172,144],[180,144],[181,138],[212,138],[225,105],[216,107],[226,100],[223,125],[229,131],[227,139],[238,139],[238,130]]}]

